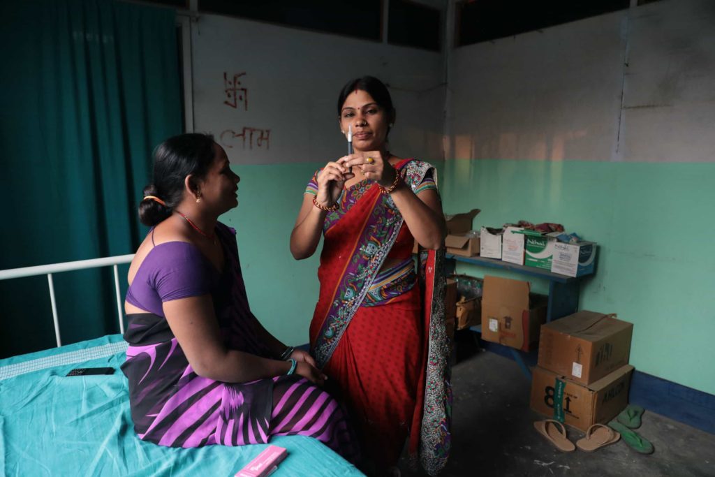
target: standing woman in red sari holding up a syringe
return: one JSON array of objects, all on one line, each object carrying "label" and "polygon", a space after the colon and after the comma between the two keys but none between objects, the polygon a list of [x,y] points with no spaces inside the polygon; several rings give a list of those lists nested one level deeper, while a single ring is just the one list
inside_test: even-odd
[{"label": "standing woman in red sari holding up a syringe", "polygon": [[[297,260],[325,237],[311,353],[351,411],[366,471],[399,475],[409,435],[413,463],[434,475],[447,461],[451,410],[436,172],[388,151],[395,109],[380,80],[348,82],[337,113],[355,152],[315,172],[290,237]],[[415,240],[425,249],[416,269]]]}]

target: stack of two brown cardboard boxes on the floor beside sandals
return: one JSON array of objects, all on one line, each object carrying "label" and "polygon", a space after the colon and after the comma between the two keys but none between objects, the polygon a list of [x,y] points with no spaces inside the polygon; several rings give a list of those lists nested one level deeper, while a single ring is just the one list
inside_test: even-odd
[{"label": "stack of two brown cardboard boxes on the floor beside sandals", "polygon": [[633,325],[580,311],[541,327],[531,408],[581,431],[628,404]]}]

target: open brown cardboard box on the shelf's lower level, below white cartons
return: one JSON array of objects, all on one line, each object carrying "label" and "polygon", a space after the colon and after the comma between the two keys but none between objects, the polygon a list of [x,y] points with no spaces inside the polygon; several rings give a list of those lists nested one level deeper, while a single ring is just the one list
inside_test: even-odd
[{"label": "open brown cardboard box on the shelf's lower level, below white cartons", "polygon": [[529,293],[521,280],[484,277],[482,339],[528,351],[538,341],[546,320],[548,297]]}]

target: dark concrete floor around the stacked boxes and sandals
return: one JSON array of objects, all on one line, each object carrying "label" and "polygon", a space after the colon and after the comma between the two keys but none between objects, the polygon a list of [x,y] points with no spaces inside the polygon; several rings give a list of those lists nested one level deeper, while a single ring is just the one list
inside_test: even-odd
[{"label": "dark concrete floor around the stacked boxes and sandals", "polygon": [[[531,383],[518,365],[473,348],[452,368],[452,454],[440,476],[715,477],[715,435],[647,409],[636,432],[653,443],[650,455],[623,441],[594,453],[556,450],[533,428],[545,417],[529,409]],[[574,443],[583,437],[566,429]],[[425,475],[404,460],[400,468],[403,477]]]}]

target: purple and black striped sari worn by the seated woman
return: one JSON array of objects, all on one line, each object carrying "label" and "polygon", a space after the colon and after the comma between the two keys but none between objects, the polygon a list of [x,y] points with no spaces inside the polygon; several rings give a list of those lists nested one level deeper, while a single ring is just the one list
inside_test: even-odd
[{"label": "purple and black striped sari worn by the seated woman", "polygon": [[[255,333],[235,230],[217,226],[227,260],[212,290],[227,348],[270,358]],[[218,272],[217,272],[218,274]],[[352,431],[337,402],[298,375],[223,383],[194,373],[167,320],[154,313],[127,315],[129,343],[122,371],[137,436],[160,446],[243,446],[270,436],[310,436],[349,461],[358,457]]]}]

